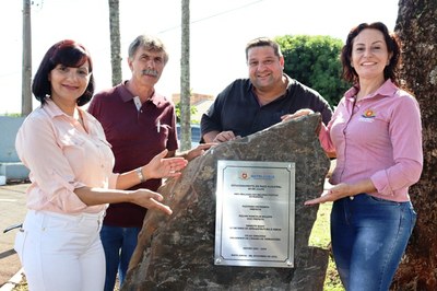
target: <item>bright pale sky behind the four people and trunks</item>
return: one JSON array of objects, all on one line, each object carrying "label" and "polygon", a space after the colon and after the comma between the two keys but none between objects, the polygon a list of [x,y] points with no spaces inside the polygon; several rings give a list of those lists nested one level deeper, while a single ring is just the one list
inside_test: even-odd
[{"label": "bright pale sky behind the four people and trunks", "polygon": [[[96,89],[111,85],[107,0],[34,0],[33,73],[49,46],[63,38],[81,42],[94,60]],[[120,0],[123,79],[126,56],[139,34],[157,35],[170,54],[156,90],[180,90],[181,0]],[[216,95],[236,78],[247,77],[245,45],[258,36],[330,35],[342,40],[362,22],[382,21],[394,28],[399,0],[191,0],[191,88]],[[21,112],[23,1],[3,0],[0,27],[0,114]],[[35,100],[34,107],[38,104]]]}]

